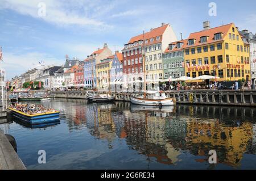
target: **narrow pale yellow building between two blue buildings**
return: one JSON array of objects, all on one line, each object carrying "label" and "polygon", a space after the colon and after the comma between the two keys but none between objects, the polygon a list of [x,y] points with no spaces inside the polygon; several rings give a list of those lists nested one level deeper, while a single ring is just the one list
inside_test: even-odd
[{"label": "narrow pale yellow building between two blue buildings", "polygon": [[96,64],[96,77],[98,90],[108,89],[110,83],[110,69],[112,68],[112,61],[114,55],[101,60]]}]

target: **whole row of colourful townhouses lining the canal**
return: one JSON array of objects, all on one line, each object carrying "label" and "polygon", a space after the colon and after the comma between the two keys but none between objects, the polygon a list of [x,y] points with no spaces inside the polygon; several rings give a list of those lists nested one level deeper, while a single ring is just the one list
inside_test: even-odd
[{"label": "whole row of colourful townhouses lining the canal", "polygon": [[42,80],[49,89],[125,87],[144,82],[144,78],[154,83],[200,75],[220,77],[219,81],[251,80],[256,73],[256,35],[239,31],[234,23],[210,28],[210,23],[204,22],[203,30],[178,40],[170,24],[162,23],[131,37],[122,52],[113,54],[105,43],[83,61],[66,56],[63,66],[28,72],[23,75],[24,81]]}]

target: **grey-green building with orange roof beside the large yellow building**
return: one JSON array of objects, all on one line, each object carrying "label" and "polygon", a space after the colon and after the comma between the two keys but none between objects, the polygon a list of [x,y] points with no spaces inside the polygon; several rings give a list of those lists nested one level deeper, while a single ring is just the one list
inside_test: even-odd
[{"label": "grey-green building with orange roof beside the large yellow building", "polygon": [[184,69],[184,50],[183,45],[187,40],[175,41],[163,53],[163,76],[167,78],[183,77]]}]

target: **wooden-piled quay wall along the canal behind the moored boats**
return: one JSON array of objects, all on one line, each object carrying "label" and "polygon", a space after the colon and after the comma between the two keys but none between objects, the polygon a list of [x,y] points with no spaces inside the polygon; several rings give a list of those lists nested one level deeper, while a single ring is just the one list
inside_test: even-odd
[{"label": "wooden-piled quay wall along the canal behind the moored boats", "polygon": [[[104,92],[96,92],[104,94]],[[134,93],[111,93],[117,101],[130,101]],[[225,106],[256,106],[256,90],[181,90],[166,91],[177,104],[212,104]],[[52,91],[53,98],[86,99],[86,91]]]}]

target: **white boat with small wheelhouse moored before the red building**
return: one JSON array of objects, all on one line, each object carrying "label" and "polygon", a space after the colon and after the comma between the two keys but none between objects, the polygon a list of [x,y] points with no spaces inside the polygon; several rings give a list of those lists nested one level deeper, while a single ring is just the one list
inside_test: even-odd
[{"label": "white boat with small wheelhouse moored before the red building", "polygon": [[174,106],[174,99],[162,91],[145,92],[147,96],[131,96],[131,103],[142,106]]}]

